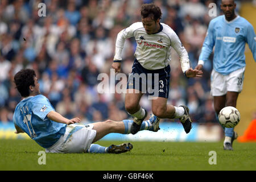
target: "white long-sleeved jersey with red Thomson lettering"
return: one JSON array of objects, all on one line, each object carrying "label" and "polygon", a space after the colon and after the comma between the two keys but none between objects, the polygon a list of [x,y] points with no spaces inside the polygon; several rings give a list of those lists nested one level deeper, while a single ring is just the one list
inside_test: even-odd
[{"label": "white long-sleeved jersey with red Thomson lettering", "polygon": [[122,60],[123,44],[125,39],[131,37],[137,42],[134,56],[142,67],[150,70],[167,67],[171,61],[171,47],[173,47],[180,57],[182,71],[185,72],[190,68],[187,51],[174,30],[164,23],[160,23],[160,30],[151,35],[147,34],[142,22],[133,23],[120,31],[115,43],[114,60]]}]

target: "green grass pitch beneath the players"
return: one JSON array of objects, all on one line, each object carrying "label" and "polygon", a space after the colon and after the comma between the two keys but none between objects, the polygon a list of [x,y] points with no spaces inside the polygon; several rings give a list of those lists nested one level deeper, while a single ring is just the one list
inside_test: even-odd
[{"label": "green grass pitch beneath the players", "polygon": [[[99,141],[102,146],[119,141]],[[256,143],[233,143],[224,151],[222,142],[131,142],[133,150],[123,154],[46,154],[38,164],[39,151],[33,140],[0,140],[0,170],[83,170],[83,171],[172,171],[172,170],[256,170]],[[209,164],[210,151],[216,164]],[[210,161],[214,162],[213,158]]]}]

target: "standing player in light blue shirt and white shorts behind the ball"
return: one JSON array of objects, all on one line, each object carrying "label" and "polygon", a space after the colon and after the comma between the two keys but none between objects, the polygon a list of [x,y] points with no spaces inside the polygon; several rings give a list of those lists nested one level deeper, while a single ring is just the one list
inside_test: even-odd
[{"label": "standing player in light blue shirt and white shorts behind the ball", "polygon": [[[210,21],[196,69],[201,70],[214,49],[211,92],[214,110],[218,115],[225,106],[236,107],[238,94],[242,91],[245,73],[245,44],[256,61],[256,36],[253,26],[236,15],[234,0],[222,0],[224,15]],[[225,128],[224,150],[233,150],[237,138],[234,128]]]}]

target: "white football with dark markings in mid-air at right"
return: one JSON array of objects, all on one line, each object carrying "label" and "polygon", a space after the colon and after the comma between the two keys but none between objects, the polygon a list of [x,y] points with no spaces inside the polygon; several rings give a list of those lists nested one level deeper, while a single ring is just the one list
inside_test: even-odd
[{"label": "white football with dark markings in mid-air at right", "polygon": [[236,107],[232,106],[224,107],[218,114],[218,121],[220,121],[221,125],[229,128],[236,126],[240,118],[240,112]]}]

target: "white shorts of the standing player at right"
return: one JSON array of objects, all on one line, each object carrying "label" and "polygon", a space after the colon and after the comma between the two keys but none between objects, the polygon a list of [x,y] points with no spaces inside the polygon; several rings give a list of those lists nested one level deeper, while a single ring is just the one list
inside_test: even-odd
[{"label": "white shorts of the standing player at right", "polygon": [[210,90],[212,96],[224,96],[229,92],[240,93],[243,88],[243,78],[245,67],[237,69],[229,73],[229,75],[222,75],[216,71],[212,71],[210,76]]}]

